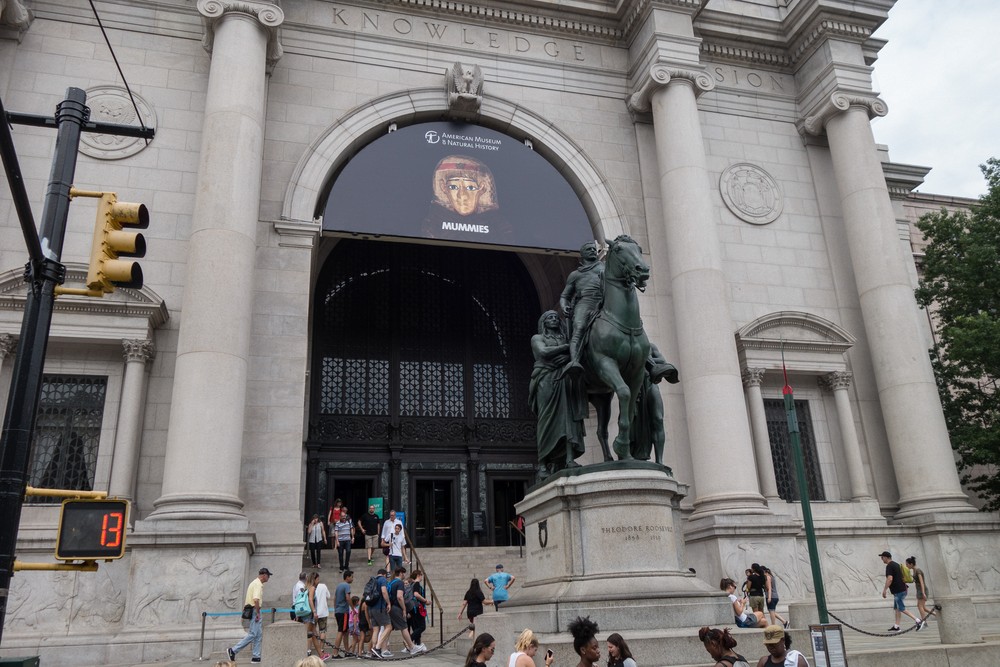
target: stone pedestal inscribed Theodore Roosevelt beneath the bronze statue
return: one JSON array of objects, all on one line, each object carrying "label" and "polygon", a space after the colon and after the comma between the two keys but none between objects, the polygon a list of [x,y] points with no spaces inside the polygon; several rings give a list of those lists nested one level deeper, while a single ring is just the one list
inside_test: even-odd
[{"label": "stone pedestal inscribed Theodore Roosevelt beneath the bronze statue", "polygon": [[563,471],[517,505],[527,581],[504,605],[515,628],[563,632],[577,616],[602,631],[732,622],[728,599],[688,571],[668,468],[613,462]]}]

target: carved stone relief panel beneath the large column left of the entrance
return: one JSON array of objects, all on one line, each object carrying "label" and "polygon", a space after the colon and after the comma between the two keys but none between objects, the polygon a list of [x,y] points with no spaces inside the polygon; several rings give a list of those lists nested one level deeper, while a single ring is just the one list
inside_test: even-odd
[{"label": "carved stone relief panel beneath the large column left of the entrance", "polygon": [[147,558],[150,562],[135,570],[156,572],[156,577],[139,586],[130,601],[130,626],[195,623],[202,611],[242,606],[243,565],[235,555],[157,551]]}]

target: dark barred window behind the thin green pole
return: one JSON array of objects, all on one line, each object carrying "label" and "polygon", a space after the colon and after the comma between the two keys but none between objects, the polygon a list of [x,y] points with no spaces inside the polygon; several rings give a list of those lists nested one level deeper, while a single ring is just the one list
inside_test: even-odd
[{"label": "dark barred window behind the thin green pole", "polygon": [[[780,398],[764,399],[764,413],[767,416],[767,435],[771,441],[771,461],[774,463],[778,496],[788,502],[797,502],[799,485],[796,481],[795,461],[792,459],[792,440],[788,432],[785,401]],[[809,412],[809,401],[795,401],[795,413],[799,421],[799,441],[802,444],[809,499],[826,500],[823,478],[819,470],[819,457],[816,455],[816,437]]]}]

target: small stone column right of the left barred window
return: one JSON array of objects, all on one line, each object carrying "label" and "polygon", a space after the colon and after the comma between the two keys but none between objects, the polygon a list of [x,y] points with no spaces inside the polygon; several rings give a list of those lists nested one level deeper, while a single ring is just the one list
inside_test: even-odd
[{"label": "small stone column right of the left barred window", "polygon": [[125,374],[122,397],[115,428],[115,451],[111,459],[111,481],[108,494],[135,498],[135,475],[139,464],[139,442],[142,436],[142,412],[146,404],[146,363],[156,351],[152,341],[123,340]]}]

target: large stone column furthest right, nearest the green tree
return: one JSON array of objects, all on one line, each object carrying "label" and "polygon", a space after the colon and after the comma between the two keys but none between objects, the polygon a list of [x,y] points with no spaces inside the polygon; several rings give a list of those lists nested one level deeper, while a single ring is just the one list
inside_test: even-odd
[{"label": "large stone column furthest right, nearest the green tree", "polygon": [[899,486],[897,518],[975,511],[962,493],[934,374],[920,335],[919,311],[896,235],[896,219],[875,149],[875,97],[836,92],[808,116],[826,129],[871,349],[875,382]]}]

